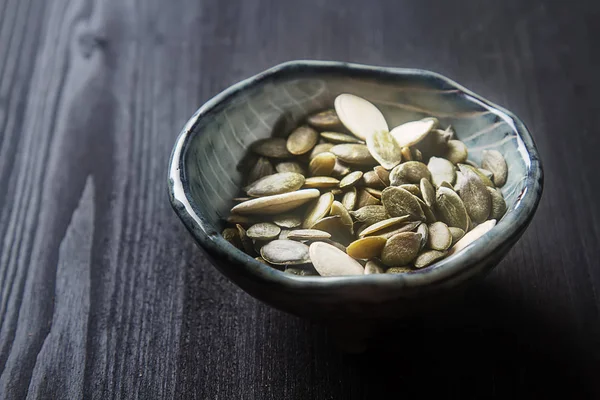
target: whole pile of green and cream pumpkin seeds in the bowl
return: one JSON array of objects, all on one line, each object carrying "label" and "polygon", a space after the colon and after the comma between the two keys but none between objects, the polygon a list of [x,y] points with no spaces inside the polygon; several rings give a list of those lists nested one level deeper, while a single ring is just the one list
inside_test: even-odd
[{"label": "whole pile of green and cream pumpkin seeds in the bowl", "polygon": [[481,165],[436,118],[389,129],[365,99],[341,94],[286,138],[251,146],[246,186],[223,237],[296,275],[410,273],[456,253],[506,212],[508,167]]}]

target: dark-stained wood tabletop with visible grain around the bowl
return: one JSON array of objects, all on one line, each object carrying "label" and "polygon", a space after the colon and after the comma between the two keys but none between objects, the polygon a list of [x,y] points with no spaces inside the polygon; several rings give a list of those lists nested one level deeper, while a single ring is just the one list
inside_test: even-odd
[{"label": "dark-stained wood tabletop with visible grain around the bowl", "polygon": [[[600,396],[598,17],[596,0],[0,0],[0,398]],[[499,267],[362,355],[228,282],[168,202],[187,118],[301,58],[445,74],[519,115],[545,167]]]}]

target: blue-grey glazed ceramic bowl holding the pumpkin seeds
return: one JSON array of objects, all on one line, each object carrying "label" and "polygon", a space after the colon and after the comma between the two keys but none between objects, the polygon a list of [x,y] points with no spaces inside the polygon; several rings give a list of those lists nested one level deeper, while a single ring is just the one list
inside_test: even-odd
[{"label": "blue-grey glazed ceramic bowl holding the pumpkin seeds", "polygon": [[[435,265],[408,274],[305,277],[285,274],[236,249],[220,235],[241,186],[248,146],[307,114],[330,108],[340,93],[374,103],[389,126],[437,117],[451,124],[480,162],[499,150],[509,165],[502,188],[508,211],[484,237]],[[173,208],[213,264],[257,299],[320,320],[401,318],[427,311],[483,277],[527,228],[542,195],[542,167],[525,125],[441,75],[321,61],[293,61],[237,83],[204,104],[181,131],[169,165]]]}]

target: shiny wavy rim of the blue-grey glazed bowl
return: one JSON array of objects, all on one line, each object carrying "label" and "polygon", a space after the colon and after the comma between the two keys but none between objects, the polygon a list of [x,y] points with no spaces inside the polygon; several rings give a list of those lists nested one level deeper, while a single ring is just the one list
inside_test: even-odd
[{"label": "shiny wavy rim of the blue-grey glazed bowl", "polygon": [[[185,176],[183,155],[194,135],[201,134],[200,132],[195,133],[194,130],[198,121],[204,115],[241,91],[254,88],[269,79],[276,78],[280,74],[294,72],[294,70],[297,72],[299,68],[302,71],[330,70],[338,73],[352,72],[355,74],[385,75],[385,78],[387,79],[398,79],[406,76],[425,76],[442,81],[445,84],[460,90],[465,95],[469,96],[471,100],[480,103],[483,107],[493,109],[496,114],[502,114],[500,116],[503,117],[517,133],[528,155],[528,159],[524,160],[527,168],[525,188],[520,198],[517,200],[518,206],[498,221],[491,231],[494,232],[494,234],[483,236],[469,244],[457,254],[449,256],[431,267],[406,274],[373,274],[339,277],[296,276],[283,273],[282,271],[258,262],[253,257],[236,249],[223,239],[220,232],[215,230],[215,227],[213,227],[203,216],[202,211],[191,198],[189,182]],[[180,131],[173,147],[169,160],[168,191],[173,209],[196,242],[198,242],[210,256],[217,259],[225,257],[230,261],[230,264],[238,264],[231,265],[231,268],[234,268],[235,271],[222,271],[227,276],[241,275],[241,278],[282,285],[283,287],[294,291],[313,290],[322,292],[333,286],[344,286],[350,289],[365,285],[377,285],[378,288],[390,286],[394,289],[398,289],[399,287],[417,288],[425,285],[434,287],[457,278],[469,271],[469,269],[477,263],[490,257],[496,249],[500,248],[504,243],[510,242],[513,236],[518,238],[523,233],[531,222],[541,199],[543,180],[544,175],[541,160],[533,137],[525,124],[512,112],[492,103],[441,74],[415,68],[379,67],[338,61],[296,60],[278,64],[228,87],[209,99],[194,113]]]}]

